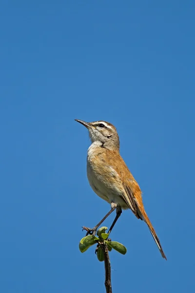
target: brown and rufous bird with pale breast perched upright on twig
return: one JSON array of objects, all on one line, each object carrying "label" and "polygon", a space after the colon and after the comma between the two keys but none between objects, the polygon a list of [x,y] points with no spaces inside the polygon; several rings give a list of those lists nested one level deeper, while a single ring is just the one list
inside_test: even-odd
[{"label": "brown and rufous bird with pale breast perched upright on twig", "polygon": [[91,188],[111,205],[111,210],[93,228],[86,228],[87,234],[96,234],[101,223],[116,209],[116,217],[109,234],[122,213],[130,209],[137,219],[143,220],[162,255],[166,258],[148,215],[144,209],[139,185],[119,153],[119,136],[114,125],[106,121],[85,122],[75,119],[89,131],[91,146],[87,151],[87,177]]}]

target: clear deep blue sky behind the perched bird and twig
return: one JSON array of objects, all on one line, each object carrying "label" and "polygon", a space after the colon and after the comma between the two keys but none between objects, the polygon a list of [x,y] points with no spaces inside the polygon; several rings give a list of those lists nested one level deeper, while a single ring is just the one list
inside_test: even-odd
[{"label": "clear deep blue sky behind the perched bird and twig", "polygon": [[113,293],[194,292],[195,2],[2,0],[0,27],[0,292],[105,292],[78,243],[110,206],[74,119],[117,127],[168,259],[124,211]]}]

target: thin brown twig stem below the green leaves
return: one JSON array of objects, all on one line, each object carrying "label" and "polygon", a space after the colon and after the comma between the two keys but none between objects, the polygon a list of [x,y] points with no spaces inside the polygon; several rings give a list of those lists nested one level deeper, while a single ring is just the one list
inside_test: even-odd
[{"label": "thin brown twig stem below the green leaves", "polygon": [[104,267],[105,267],[105,287],[106,293],[112,293],[112,285],[111,285],[111,265],[110,258],[108,254],[108,247],[106,244],[101,243],[100,247],[104,254]]}]

